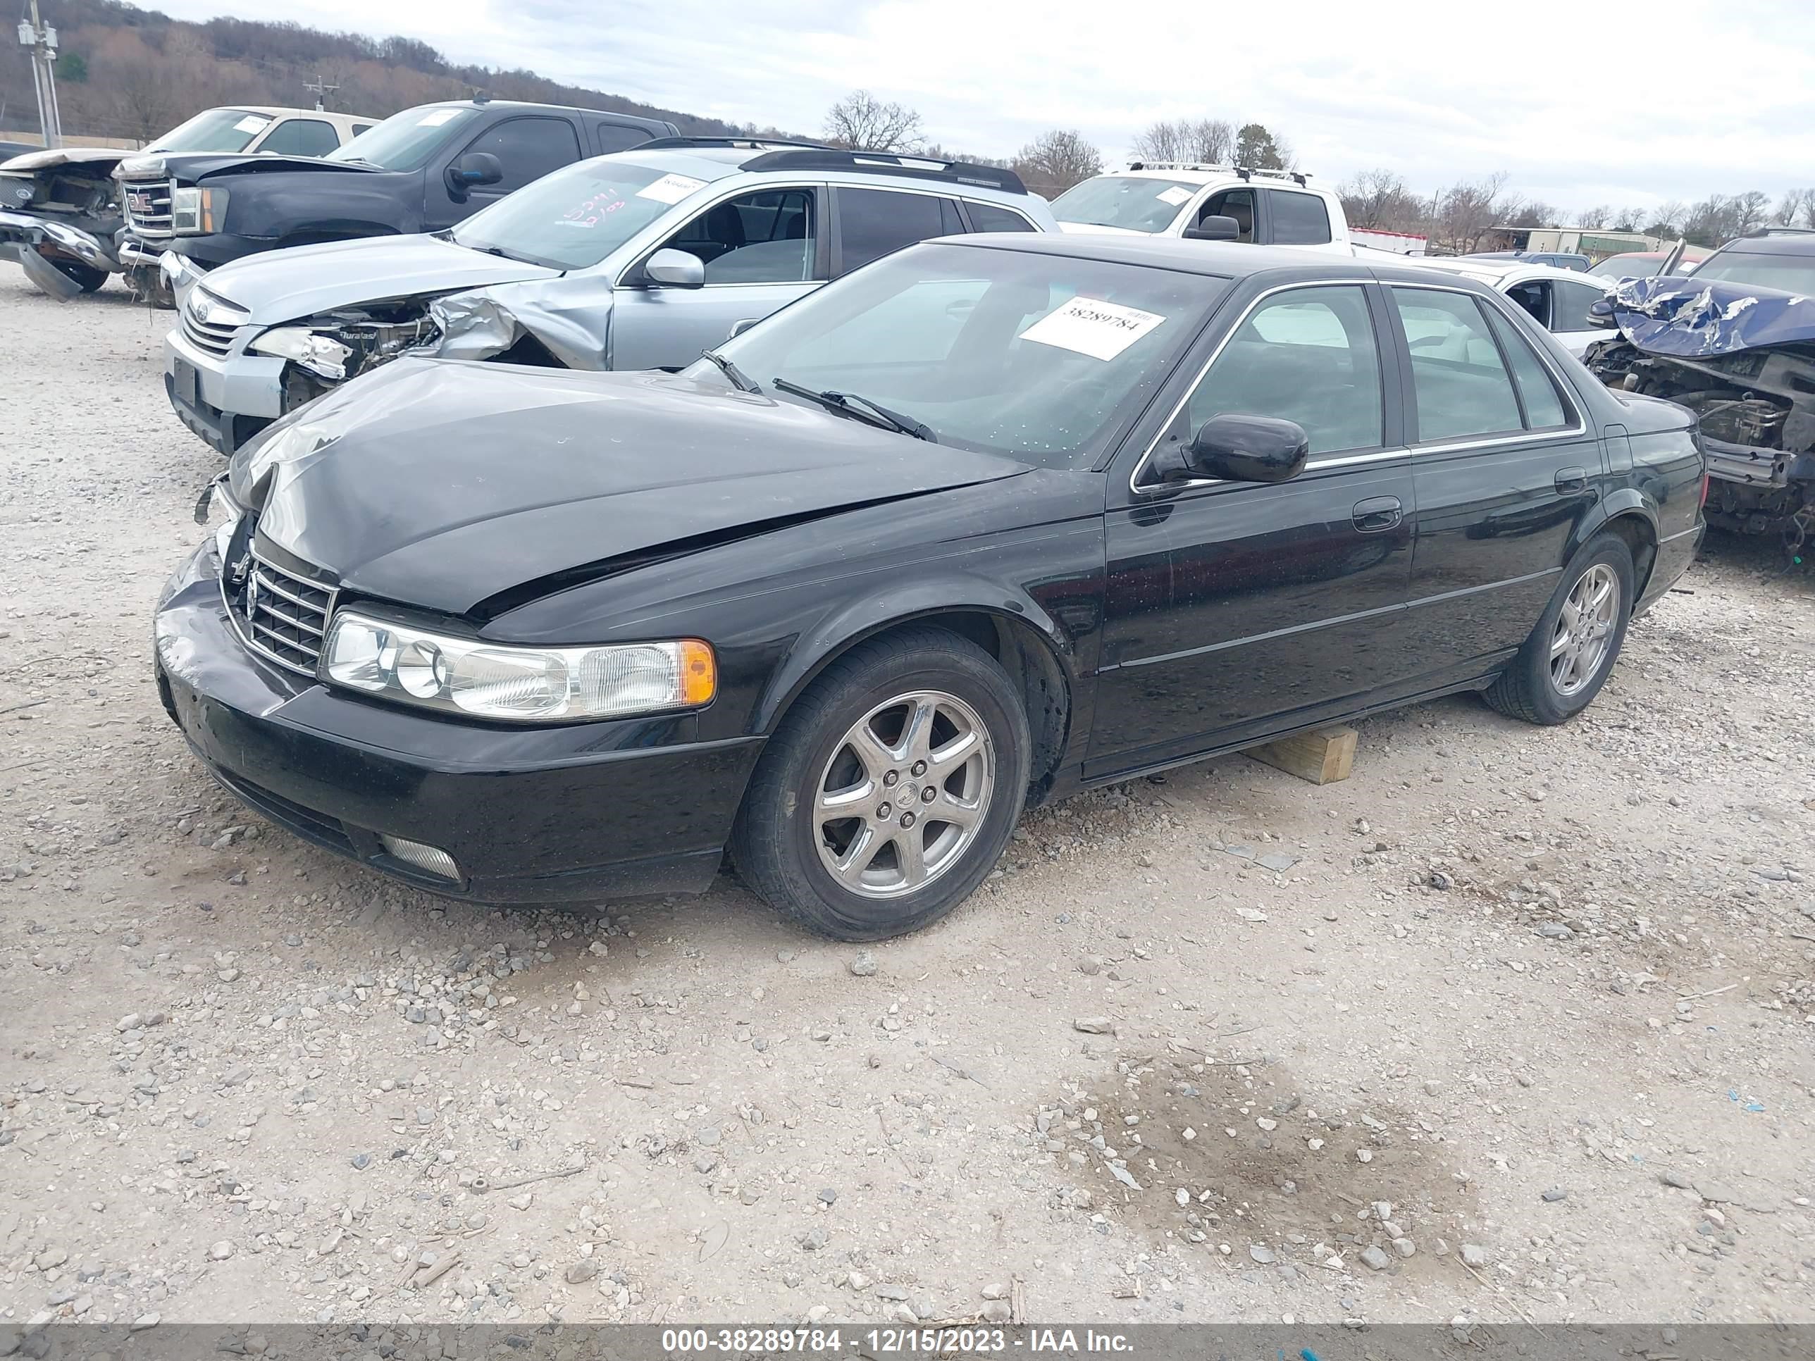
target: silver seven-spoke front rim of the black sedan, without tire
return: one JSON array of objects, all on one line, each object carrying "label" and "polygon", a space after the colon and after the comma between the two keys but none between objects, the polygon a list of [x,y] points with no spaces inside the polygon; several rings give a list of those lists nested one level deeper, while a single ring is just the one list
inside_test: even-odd
[{"label": "silver seven-spoke front rim of the black sedan, without tire", "polygon": [[897,695],[844,733],[813,791],[820,864],[866,898],[895,898],[951,869],[976,838],[996,759],[957,695]]}]

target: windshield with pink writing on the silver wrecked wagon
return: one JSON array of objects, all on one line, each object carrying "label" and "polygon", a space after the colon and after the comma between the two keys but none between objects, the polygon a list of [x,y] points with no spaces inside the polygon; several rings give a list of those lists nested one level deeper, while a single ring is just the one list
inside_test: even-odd
[{"label": "windshield with pink writing on the silver wrecked wagon", "polygon": [[704,180],[601,158],[544,174],[476,212],[452,236],[548,269],[586,269],[688,198]]}]

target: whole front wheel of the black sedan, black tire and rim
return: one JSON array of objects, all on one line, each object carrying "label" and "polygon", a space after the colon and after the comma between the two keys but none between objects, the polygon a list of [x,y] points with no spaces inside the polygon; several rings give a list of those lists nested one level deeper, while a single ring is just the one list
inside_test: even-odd
[{"label": "whole front wheel of the black sedan, black tire and rim", "polygon": [[[922,740],[909,740],[909,715]],[[835,940],[918,931],[1000,858],[1027,798],[1029,749],[1020,695],[982,648],[938,628],[864,642],[775,729],[731,862],[757,896]],[[849,804],[826,808],[822,795]]]}]

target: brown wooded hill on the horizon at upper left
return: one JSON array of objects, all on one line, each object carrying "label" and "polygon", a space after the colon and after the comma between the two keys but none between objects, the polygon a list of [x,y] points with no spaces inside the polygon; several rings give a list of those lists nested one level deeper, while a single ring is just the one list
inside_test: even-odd
[{"label": "brown wooded hill on the horizon at upper left", "polygon": [[[56,91],[64,131],[73,136],[145,142],[218,103],[309,107],[314,94],[303,85],[312,80],[339,85],[327,96],[329,109],[378,118],[416,103],[465,98],[479,87],[499,100],[666,118],[695,136],[777,132],[563,85],[534,71],[456,65],[416,38],[368,38],[241,18],[191,24],[118,0],[40,0],[40,11],[58,31]],[[0,44],[0,127],[36,125],[31,64],[9,25],[7,42]]]}]

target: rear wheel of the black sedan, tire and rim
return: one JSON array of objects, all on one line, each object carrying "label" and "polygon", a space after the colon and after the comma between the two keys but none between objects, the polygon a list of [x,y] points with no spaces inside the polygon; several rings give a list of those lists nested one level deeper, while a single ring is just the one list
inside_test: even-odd
[{"label": "rear wheel of the black sedan, tire and rim", "polygon": [[[1619,535],[1601,534],[1583,544],[1563,570],[1557,593],[1537,617],[1537,628],[1519,655],[1486,688],[1486,702],[1508,719],[1545,726],[1568,722],[1586,710],[1626,642],[1634,577],[1632,550]],[[1610,608],[1603,606],[1583,621],[1583,601],[1594,604],[1604,599],[1601,592],[1608,586],[1615,592]],[[1566,622],[1566,612],[1577,612],[1579,622]]]}]

